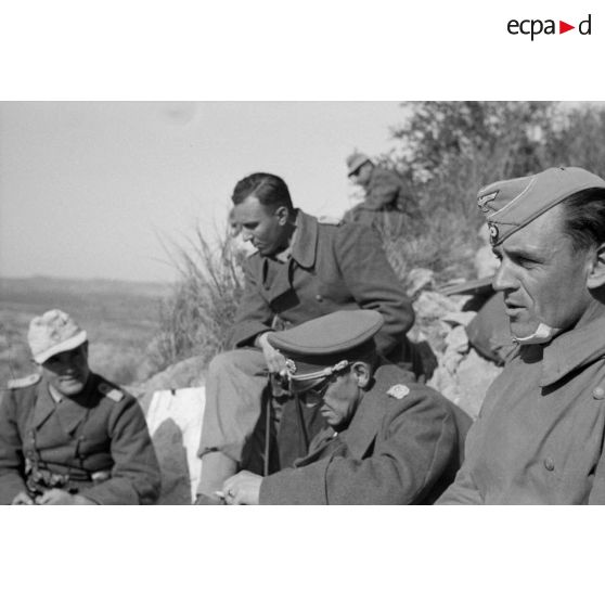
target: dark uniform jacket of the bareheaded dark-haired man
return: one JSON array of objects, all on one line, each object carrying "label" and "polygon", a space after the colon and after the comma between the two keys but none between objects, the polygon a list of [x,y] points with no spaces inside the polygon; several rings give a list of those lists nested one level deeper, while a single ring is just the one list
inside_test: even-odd
[{"label": "dark uniform jacket of the bareheaded dark-haired man", "polygon": [[[343,309],[374,309],[385,324],[378,351],[406,358],[414,311],[376,234],[359,224],[319,222],[298,210],[291,258],[282,263],[255,253],[246,259],[245,292],[232,345],[252,346],[268,330],[293,327]],[[390,355],[389,355],[390,353]]]}]

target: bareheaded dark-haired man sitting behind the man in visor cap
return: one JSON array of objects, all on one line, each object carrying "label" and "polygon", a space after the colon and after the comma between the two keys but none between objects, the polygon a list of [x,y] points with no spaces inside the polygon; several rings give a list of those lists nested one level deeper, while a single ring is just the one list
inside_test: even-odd
[{"label": "bareheaded dark-haired man sitting behind the man in visor cap", "polygon": [[412,305],[371,229],[296,209],[283,179],[266,172],[239,181],[232,201],[233,219],[256,253],[244,263],[232,350],[208,368],[197,488],[206,497],[247,467],[258,449],[255,427],[270,376],[285,372],[269,334],[339,309],[373,309],[385,320],[376,334],[381,355],[422,373],[406,336],[414,322]]}]

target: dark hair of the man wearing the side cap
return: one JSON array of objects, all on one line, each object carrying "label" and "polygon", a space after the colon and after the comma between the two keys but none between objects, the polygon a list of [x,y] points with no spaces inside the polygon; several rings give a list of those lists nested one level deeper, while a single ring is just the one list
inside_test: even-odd
[{"label": "dark hair of the man wearing the side cap", "polygon": [[605,243],[605,188],[578,191],[562,202],[563,233],[576,252]]}]

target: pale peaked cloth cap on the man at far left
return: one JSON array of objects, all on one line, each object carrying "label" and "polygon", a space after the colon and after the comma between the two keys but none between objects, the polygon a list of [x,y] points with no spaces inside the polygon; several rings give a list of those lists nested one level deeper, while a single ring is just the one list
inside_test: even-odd
[{"label": "pale peaked cloth cap on the man at far left", "polygon": [[59,309],[47,311],[29,323],[27,342],[36,363],[44,363],[53,355],[70,351],[86,340],[86,332]]}]

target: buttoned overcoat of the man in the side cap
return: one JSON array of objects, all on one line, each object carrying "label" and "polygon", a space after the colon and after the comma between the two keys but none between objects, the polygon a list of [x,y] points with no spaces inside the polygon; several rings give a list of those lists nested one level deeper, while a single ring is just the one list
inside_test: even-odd
[{"label": "buttoned overcoat of the man in the side cap", "polygon": [[605,317],[520,347],[439,504],[605,504]]}]

